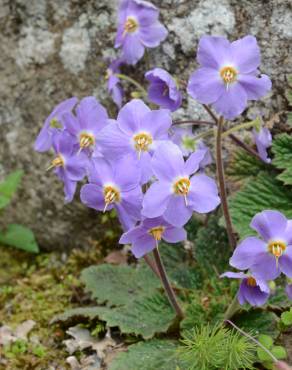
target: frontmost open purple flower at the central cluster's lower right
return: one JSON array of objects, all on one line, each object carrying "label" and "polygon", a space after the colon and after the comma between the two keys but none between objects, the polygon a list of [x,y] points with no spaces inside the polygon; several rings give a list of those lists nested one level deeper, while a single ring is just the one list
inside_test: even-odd
[{"label": "frontmost open purple flower at the central cluster's lower right", "polygon": [[206,213],[215,209],[220,203],[215,181],[204,174],[191,177],[198,171],[203,156],[202,151],[197,151],[184,162],[177,145],[162,143],[152,159],[158,181],[145,194],[142,215],[163,215],[167,222],[181,227],[193,211]]}]

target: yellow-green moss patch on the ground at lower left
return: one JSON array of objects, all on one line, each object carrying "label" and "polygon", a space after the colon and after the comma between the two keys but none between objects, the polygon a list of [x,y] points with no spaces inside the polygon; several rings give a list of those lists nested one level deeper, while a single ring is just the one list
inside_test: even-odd
[{"label": "yellow-green moss patch on the ground at lower left", "polygon": [[64,262],[57,253],[32,256],[0,246],[0,322],[13,329],[28,319],[36,322],[29,335],[34,340],[2,348],[1,370],[67,368],[68,354],[61,343],[65,333],[50,321],[55,314],[80,305],[84,296],[79,272],[100,258],[94,248],[72,251]]}]

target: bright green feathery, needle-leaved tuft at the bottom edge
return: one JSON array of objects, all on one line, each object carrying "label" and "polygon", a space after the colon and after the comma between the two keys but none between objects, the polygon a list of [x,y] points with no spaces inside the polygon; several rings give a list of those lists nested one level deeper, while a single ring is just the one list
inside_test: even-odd
[{"label": "bright green feathery, needle-leaved tuft at the bottom edge", "polygon": [[219,324],[194,328],[181,342],[179,357],[188,370],[253,369],[253,342]]}]

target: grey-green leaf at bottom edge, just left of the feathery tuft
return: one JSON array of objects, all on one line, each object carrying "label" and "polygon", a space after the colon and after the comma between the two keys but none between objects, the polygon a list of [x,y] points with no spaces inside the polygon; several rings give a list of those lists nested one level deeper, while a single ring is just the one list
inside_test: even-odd
[{"label": "grey-green leaf at bottom edge, just left of the feathery tuft", "polygon": [[109,370],[187,370],[178,362],[177,347],[175,341],[158,339],[133,344],[112,361]]}]

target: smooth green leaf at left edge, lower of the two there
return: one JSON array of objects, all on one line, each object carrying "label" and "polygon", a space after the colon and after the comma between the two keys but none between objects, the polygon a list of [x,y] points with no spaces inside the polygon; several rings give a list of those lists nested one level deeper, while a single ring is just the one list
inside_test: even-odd
[{"label": "smooth green leaf at left edge, lower of the two there", "polygon": [[5,231],[0,232],[0,242],[26,252],[38,253],[39,247],[33,232],[25,226],[11,224]]}]

